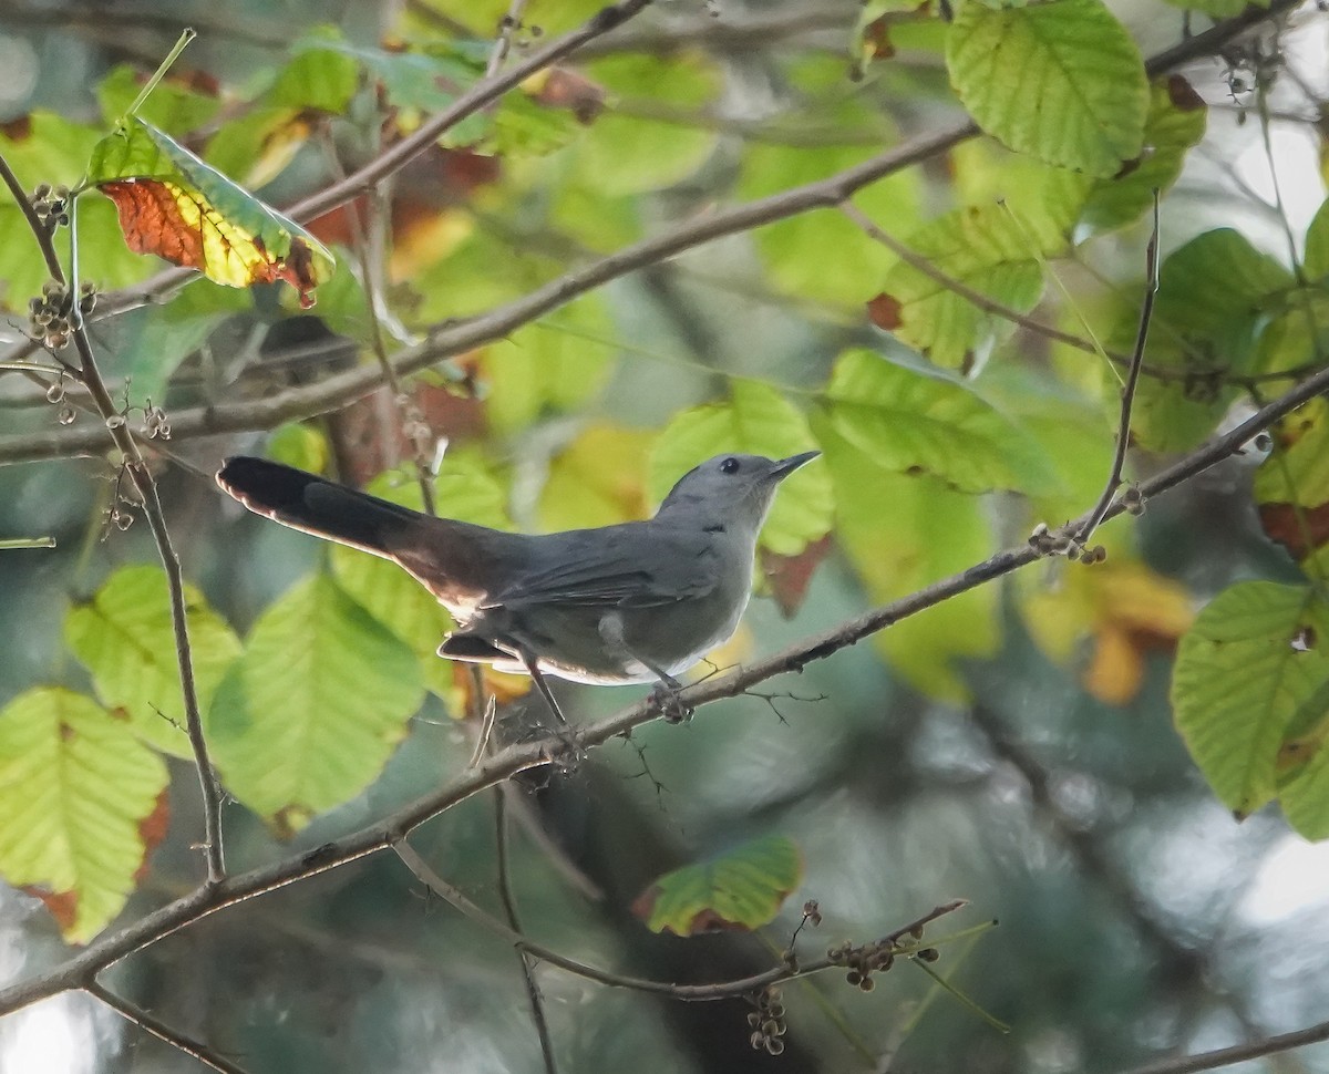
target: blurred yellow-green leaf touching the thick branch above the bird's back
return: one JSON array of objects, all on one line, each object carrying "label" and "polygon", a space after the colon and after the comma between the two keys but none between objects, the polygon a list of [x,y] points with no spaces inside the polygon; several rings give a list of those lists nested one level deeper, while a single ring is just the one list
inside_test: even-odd
[{"label": "blurred yellow-green leaf touching the thick branch above the bird's back", "polygon": [[587,295],[518,328],[484,354],[490,425],[516,432],[546,408],[573,409],[595,397],[613,372],[618,350],[602,295]]}]

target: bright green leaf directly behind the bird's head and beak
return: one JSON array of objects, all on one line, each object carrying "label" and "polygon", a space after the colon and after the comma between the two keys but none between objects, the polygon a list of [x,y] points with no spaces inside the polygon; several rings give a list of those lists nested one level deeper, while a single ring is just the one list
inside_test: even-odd
[{"label": "bright green leaf directly behind the bird's head and beak", "polygon": [[[651,451],[647,489],[659,502],[698,463],[727,452],[784,459],[816,447],[807,419],[769,384],[735,377],[726,403],[675,415]],[[762,546],[796,556],[831,529],[831,483],[820,463],[800,468],[780,486]]]}]

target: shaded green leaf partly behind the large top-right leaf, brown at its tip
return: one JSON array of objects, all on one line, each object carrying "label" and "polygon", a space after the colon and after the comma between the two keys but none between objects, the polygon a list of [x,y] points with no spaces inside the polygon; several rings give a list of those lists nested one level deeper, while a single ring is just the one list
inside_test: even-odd
[{"label": "shaded green leaf partly behind the large top-right leaf, brown at its tip", "polygon": [[1204,100],[1180,74],[1155,82],[1139,163],[1094,183],[1082,222],[1096,233],[1139,219],[1152,207],[1154,191],[1166,193],[1177,181],[1187,150],[1204,137],[1207,117]]}]

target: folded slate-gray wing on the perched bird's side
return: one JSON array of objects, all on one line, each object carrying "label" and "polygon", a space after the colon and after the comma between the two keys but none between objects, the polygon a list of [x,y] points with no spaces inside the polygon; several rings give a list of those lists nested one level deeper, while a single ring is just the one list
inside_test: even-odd
[{"label": "folded slate-gray wing on the perched bird's side", "polygon": [[707,534],[613,529],[626,532],[585,530],[583,540],[561,534],[569,540],[557,562],[518,576],[486,603],[512,610],[549,602],[653,607],[715,589],[719,569]]}]

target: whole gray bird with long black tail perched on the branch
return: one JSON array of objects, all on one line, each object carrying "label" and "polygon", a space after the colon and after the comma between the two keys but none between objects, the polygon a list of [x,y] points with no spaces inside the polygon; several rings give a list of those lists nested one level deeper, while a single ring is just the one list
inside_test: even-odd
[{"label": "whole gray bird with long black tail perched on the branch", "polygon": [[574,682],[674,678],[738,629],[776,486],[817,452],[722,455],[688,471],[655,517],[533,537],[435,518],[312,473],[237,456],[217,483],[250,510],[405,568],[457,621],[439,655]]}]

